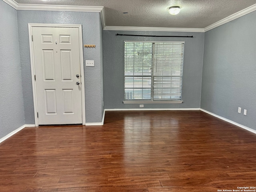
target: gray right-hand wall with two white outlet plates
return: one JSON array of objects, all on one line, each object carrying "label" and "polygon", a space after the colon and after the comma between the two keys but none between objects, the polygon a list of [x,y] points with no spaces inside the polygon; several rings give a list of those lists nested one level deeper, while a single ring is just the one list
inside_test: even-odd
[{"label": "gray right-hand wall with two white outlet plates", "polygon": [[[256,11],[205,33],[201,99],[201,108],[254,130],[255,21]],[[238,106],[242,107],[241,114]]]}]

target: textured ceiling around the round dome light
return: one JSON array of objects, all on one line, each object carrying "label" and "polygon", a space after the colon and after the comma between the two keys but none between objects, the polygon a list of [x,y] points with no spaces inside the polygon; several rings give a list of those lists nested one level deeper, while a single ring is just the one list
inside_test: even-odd
[{"label": "textured ceiling around the round dome light", "polygon": [[[206,28],[256,0],[15,0],[18,4],[104,6],[106,26]],[[170,15],[170,6],[180,6]],[[128,12],[124,14],[124,12]]]}]

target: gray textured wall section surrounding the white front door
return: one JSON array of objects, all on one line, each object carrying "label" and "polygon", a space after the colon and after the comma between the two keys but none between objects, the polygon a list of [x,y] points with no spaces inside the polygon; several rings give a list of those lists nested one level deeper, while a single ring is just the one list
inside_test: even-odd
[{"label": "gray textured wall section surrounding the white front door", "polygon": [[94,60],[95,64],[95,67],[84,66],[86,122],[102,122],[103,80],[100,13],[18,10],[17,16],[26,124],[34,124],[28,23],[82,24],[83,44],[96,45],[96,48],[84,48],[84,64],[85,60]]}]

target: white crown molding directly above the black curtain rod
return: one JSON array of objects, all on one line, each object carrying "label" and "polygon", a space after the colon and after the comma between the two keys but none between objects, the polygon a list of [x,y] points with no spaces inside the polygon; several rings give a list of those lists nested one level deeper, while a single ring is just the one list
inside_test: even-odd
[{"label": "white crown molding directly above the black curtain rod", "polygon": [[116,31],[204,32],[204,29],[200,29],[200,28],[129,27],[129,26],[105,26],[104,30],[116,30]]}]

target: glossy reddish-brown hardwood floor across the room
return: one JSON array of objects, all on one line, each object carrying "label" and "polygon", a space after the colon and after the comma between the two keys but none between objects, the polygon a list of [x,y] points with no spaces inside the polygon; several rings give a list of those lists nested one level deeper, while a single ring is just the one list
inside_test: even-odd
[{"label": "glossy reddish-brown hardwood floor across the room", "polygon": [[256,135],[201,111],[106,112],[103,126],[24,128],[0,144],[0,192],[238,187],[256,187]]}]

